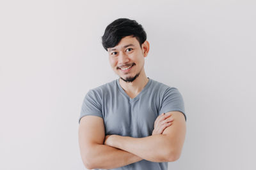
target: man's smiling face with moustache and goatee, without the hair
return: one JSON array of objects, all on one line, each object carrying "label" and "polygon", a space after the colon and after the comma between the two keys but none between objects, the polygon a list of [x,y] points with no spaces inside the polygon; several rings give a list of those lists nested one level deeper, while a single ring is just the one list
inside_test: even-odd
[{"label": "man's smiling face with moustache and goatee, without the hair", "polygon": [[135,37],[126,36],[118,45],[108,48],[110,65],[122,80],[132,82],[143,70],[144,57],[147,57],[144,44],[141,48]]}]

